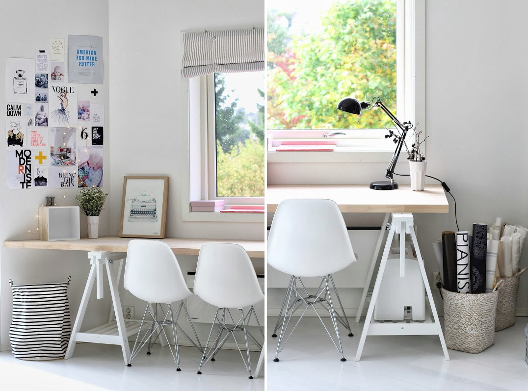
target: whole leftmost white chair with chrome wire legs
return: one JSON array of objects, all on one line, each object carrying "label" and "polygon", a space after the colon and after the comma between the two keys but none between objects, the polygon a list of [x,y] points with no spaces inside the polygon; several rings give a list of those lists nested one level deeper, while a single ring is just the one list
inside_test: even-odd
[{"label": "whole leftmost white chair with chrome wire legs", "polygon": [[[134,348],[130,354],[128,361],[129,367],[132,366],[131,361],[145,345],[147,345],[147,354],[150,354],[150,348],[162,333],[168,342],[165,326],[171,326],[172,328],[174,351],[170,344],[168,347],[176,363],[177,371],[180,371],[177,331],[181,332],[191,341],[196,349],[203,353],[203,348],[194,329],[191,317],[183,302],[192,293],[187,288],[180,265],[171,247],[160,241],[131,240],[128,243],[124,286],[134,296],[148,303],[143,314],[143,320],[139,327],[136,341],[134,342]],[[180,302],[179,306],[176,311],[173,311],[171,303],[178,301]],[[161,305],[163,303],[167,304],[167,311],[163,309]],[[185,311],[191,328],[193,329],[196,342],[177,324],[182,309]],[[139,342],[142,329],[144,326],[148,326],[149,320],[146,321],[147,313],[152,323],[143,340]]]}]

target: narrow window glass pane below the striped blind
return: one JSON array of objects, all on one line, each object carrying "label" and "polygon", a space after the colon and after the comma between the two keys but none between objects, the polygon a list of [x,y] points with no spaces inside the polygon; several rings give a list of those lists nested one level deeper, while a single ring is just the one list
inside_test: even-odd
[{"label": "narrow window glass pane below the striped blind", "polygon": [[264,196],[264,74],[215,73],[216,196]]}]

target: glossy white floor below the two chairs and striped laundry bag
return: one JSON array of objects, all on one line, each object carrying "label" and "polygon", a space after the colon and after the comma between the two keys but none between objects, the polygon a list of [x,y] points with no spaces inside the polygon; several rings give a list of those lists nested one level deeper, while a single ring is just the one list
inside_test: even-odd
[{"label": "glossy white floor below the two chairs and striped laundry bag", "polygon": [[[262,391],[264,378],[248,379],[238,350],[222,349],[216,361],[197,375],[200,354],[194,348],[180,348],[181,371],[176,371],[168,348],[155,345],[152,355],[140,352],[127,367],[119,346],[77,344],[68,360],[23,361],[11,352],[0,352],[2,390],[249,390]],[[146,352],[146,350],[145,350]],[[251,352],[257,365],[258,352]]]}]

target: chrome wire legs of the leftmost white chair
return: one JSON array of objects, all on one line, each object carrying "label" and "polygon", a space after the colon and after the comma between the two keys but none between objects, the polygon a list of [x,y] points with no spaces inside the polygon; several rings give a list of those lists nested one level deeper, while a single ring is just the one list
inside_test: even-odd
[{"label": "chrome wire legs of the leftmost white chair", "polygon": [[[148,303],[147,308],[145,309],[145,313],[143,314],[143,320],[141,321],[141,325],[139,326],[139,331],[137,333],[136,341],[134,342],[134,348],[132,349],[132,352],[130,354],[130,359],[128,360],[128,366],[131,367],[132,360],[136,355],[139,353],[141,349],[145,345],[147,345],[147,354],[150,354],[150,348],[152,345],[154,345],[154,342],[156,342],[156,339],[158,337],[165,337],[165,340],[167,341],[168,348],[171,350],[172,357],[174,358],[174,362],[176,363],[176,370],[180,371],[180,352],[178,351],[178,338],[177,338],[177,331],[181,332],[185,338],[187,338],[191,344],[198,350],[200,350],[203,354],[203,348],[200,344],[200,339],[198,338],[198,335],[196,334],[196,330],[194,329],[193,322],[191,320],[191,317],[189,313],[187,312],[187,308],[185,307],[185,304],[183,303],[183,300],[180,302],[180,306],[178,306],[178,309],[174,313],[172,310],[171,304],[167,304],[168,311],[165,312],[163,310],[163,307],[161,306],[161,303]],[[158,308],[160,310],[161,315],[158,316]],[[178,318],[180,317],[180,313],[182,311],[182,308],[185,310],[185,314],[187,315],[187,318],[189,320],[189,324],[191,325],[191,328],[193,329],[194,337],[196,338],[196,342],[194,342],[191,337],[187,335],[185,331],[177,324]],[[150,316],[150,320],[145,321],[145,318],[147,318],[147,313]],[[158,320],[161,318],[161,320]],[[141,331],[148,325],[149,322],[152,322],[150,327],[148,328],[148,331],[145,333],[145,336],[143,337],[143,340],[139,342],[139,336],[141,335]],[[168,343],[168,336],[165,332],[164,326],[170,325],[172,328],[172,336],[174,338],[174,350],[171,348],[171,344]]]}]

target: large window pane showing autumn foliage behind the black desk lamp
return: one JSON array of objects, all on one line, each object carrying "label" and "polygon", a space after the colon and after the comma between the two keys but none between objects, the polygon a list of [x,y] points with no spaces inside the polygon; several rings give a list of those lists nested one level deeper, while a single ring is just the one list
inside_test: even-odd
[{"label": "large window pane showing autumn foliage behind the black desk lamp", "polygon": [[266,0],[268,129],[381,129],[379,109],[336,109],[381,98],[396,112],[395,0]]}]

